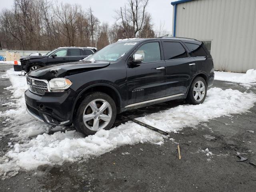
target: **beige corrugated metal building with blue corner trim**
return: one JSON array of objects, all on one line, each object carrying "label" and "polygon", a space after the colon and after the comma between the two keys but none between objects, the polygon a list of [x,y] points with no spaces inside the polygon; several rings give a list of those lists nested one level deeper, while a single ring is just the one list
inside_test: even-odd
[{"label": "beige corrugated metal building with blue corner trim", "polygon": [[256,0],[180,0],[171,4],[173,35],[206,41],[216,70],[256,69]]}]

